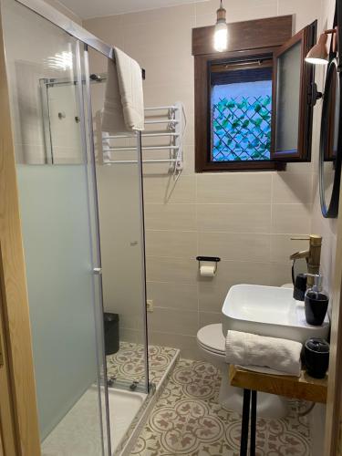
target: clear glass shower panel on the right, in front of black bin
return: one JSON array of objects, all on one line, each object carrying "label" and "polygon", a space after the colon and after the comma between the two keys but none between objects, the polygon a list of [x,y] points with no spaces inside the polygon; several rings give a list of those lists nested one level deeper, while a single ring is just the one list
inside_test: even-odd
[{"label": "clear glass shower panel on the right, in front of black bin", "polygon": [[[140,137],[102,130],[108,58],[89,49],[89,119],[97,192],[112,451],[120,451],[148,399],[145,256]],[[118,135],[117,135],[118,136]],[[113,148],[118,147],[118,153]],[[119,159],[119,163],[114,162]]]}]

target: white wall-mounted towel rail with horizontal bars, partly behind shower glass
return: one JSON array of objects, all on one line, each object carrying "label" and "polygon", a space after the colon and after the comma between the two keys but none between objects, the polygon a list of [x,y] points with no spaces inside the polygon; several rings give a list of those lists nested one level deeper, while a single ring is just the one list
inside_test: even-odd
[{"label": "white wall-mounted towel rail with horizontal bars, partly behind shower glass", "polygon": [[[158,130],[149,130],[162,127]],[[141,150],[166,150],[169,151],[168,157],[157,156],[149,159],[143,159],[145,163],[169,163],[170,170],[174,174],[182,170],[183,165],[183,136],[186,127],[186,116],[183,104],[178,101],[171,106],[159,106],[145,108],[145,130],[141,133],[142,147]],[[161,145],[153,142],[149,144],[149,138],[164,140]],[[117,158],[117,152],[129,152],[137,150],[135,145],[118,145],[118,140],[131,140],[132,136],[127,134],[110,135],[102,132],[102,151],[104,164],[127,164],[136,163],[137,160],[125,160]]]}]

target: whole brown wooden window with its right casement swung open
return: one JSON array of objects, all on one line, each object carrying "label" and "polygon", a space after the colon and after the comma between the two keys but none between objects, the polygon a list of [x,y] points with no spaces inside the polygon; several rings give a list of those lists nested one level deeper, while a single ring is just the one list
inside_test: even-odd
[{"label": "whole brown wooden window with its right casement swung open", "polygon": [[[291,36],[292,17],[230,24],[232,50],[215,53],[212,27],[192,30],[195,167],[283,170],[309,161],[316,23]],[[207,41],[206,41],[207,39]]]}]

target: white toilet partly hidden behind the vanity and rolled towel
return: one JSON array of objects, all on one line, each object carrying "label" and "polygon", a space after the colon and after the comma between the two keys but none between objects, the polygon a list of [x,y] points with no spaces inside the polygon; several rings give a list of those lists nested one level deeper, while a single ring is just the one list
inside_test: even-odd
[{"label": "white toilet partly hidden behind the vanity and rolled towel", "polygon": [[[197,333],[197,344],[202,358],[221,369],[222,380],[219,401],[225,409],[242,413],[243,389],[232,387],[228,381],[228,364],[225,362],[225,337],[221,324],[202,327]],[[257,413],[264,418],[284,418],[288,412],[288,401],[281,396],[259,392]]]}]

